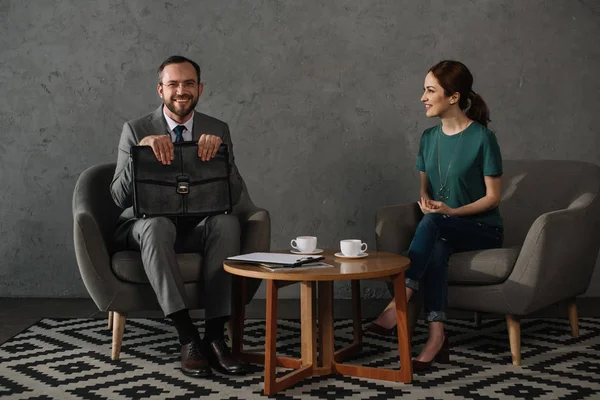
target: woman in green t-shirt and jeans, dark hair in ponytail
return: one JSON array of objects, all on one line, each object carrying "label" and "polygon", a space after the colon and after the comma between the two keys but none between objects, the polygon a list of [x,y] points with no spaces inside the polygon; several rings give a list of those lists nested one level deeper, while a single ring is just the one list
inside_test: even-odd
[{"label": "woman in green t-shirt and jeans, dark hair in ponytail", "polygon": [[[472,86],[473,76],[464,64],[442,61],[429,69],[421,97],[426,115],[439,117],[441,124],[423,132],[416,162],[424,216],[408,249],[406,296],[424,290],[429,324],[427,343],[413,360],[416,372],[449,359],[444,320],[450,255],[502,246],[502,156],[487,129],[487,105]],[[394,334],[394,308],[392,301],[367,330]]]}]

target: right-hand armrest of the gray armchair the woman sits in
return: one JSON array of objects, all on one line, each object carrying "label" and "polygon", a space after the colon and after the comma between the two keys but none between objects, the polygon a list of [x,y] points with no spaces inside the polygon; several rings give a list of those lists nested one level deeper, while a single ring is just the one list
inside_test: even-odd
[{"label": "right-hand armrest of the gray armchair the woman sits in", "polygon": [[531,225],[506,282],[505,298],[524,315],[584,293],[600,248],[600,198],[586,193]]}]

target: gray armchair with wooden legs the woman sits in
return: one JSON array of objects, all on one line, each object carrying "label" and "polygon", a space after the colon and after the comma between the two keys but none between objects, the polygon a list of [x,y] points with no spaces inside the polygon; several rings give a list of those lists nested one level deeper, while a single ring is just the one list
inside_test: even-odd
[{"label": "gray armchair with wooden legs the woman sits in", "polygon": [[[504,247],[450,257],[448,304],[476,317],[506,315],[512,362],[520,365],[521,317],[566,301],[579,335],[575,297],[587,290],[600,249],[600,167],[505,160],[502,187]],[[377,250],[406,251],[420,219],[416,202],[379,210]],[[421,300],[409,306],[415,319]]]}]

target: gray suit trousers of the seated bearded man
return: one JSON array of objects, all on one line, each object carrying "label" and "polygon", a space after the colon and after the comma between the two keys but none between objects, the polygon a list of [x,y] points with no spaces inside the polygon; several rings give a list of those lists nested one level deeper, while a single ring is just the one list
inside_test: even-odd
[{"label": "gray suit trousers of the seated bearded man", "polygon": [[206,319],[231,315],[232,277],[223,260],[240,252],[240,224],[235,215],[215,215],[201,221],[167,217],[136,220],[127,247],[141,252],[144,270],[165,315],[187,308],[176,253],[202,255]]}]

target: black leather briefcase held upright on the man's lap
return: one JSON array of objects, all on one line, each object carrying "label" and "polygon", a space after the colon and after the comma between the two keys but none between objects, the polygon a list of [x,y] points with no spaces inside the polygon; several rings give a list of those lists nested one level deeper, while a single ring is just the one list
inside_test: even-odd
[{"label": "black leather briefcase held upright on the man's lap", "polygon": [[198,143],[174,144],[171,165],[150,146],[132,146],[133,210],[138,218],[206,217],[232,210],[229,154],[222,144],[210,161],[198,157]]}]

